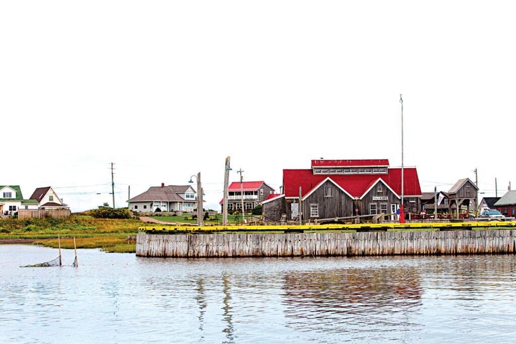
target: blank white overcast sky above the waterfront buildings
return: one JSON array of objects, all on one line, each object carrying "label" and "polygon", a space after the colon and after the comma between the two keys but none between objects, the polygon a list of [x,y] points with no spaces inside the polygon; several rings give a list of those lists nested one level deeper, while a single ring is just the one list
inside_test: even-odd
[{"label": "blank white overcast sky above the waterfront buildings", "polygon": [[479,198],[502,196],[516,188],[515,9],[0,1],[0,185],[25,199],[51,186],[83,211],[112,205],[112,181],[122,207],[201,172],[204,208],[220,210],[227,156],[230,182],[241,169],[277,192],[312,159],[389,159],[423,191],[476,169]]}]

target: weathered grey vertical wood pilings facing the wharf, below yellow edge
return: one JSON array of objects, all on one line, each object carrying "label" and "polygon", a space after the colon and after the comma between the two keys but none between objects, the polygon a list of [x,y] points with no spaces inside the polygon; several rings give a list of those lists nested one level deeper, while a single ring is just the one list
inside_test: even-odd
[{"label": "weathered grey vertical wood pilings facing the wharf, below yellow edge", "polygon": [[147,234],[136,238],[140,257],[285,257],[516,253],[516,230]]}]

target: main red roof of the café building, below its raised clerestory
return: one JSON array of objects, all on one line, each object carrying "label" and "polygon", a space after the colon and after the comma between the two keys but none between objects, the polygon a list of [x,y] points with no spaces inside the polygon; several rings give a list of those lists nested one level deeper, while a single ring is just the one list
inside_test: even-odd
[{"label": "main red roof of the caf\u00e9 building, below its raised clerestory", "polygon": [[[404,168],[404,195],[421,195],[421,186],[415,168]],[[313,174],[312,170],[283,170],[285,197],[304,196],[324,179],[330,178],[353,197],[361,197],[379,178],[394,192],[401,195],[401,168],[390,168],[383,174]]]}]

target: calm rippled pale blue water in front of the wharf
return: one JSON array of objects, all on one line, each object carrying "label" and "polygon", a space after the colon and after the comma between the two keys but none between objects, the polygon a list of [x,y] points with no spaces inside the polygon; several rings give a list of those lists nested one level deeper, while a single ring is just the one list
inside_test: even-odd
[{"label": "calm rippled pale blue water in front of the wharf", "polygon": [[[513,255],[139,258],[0,245],[0,342],[513,342]],[[72,264],[73,250],[62,250]]]}]

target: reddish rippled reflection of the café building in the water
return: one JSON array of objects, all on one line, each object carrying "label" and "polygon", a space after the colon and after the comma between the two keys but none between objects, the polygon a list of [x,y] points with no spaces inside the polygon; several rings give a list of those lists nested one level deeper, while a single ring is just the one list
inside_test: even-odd
[{"label": "reddish rippled reflection of the caf\u00e9 building in the water", "polygon": [[422,305],[420,276],[413,269],[290,272],[284,289],[285,315],[298,330],[338,333],[364,331],[367,326],[419,325],[406,317]]}]

